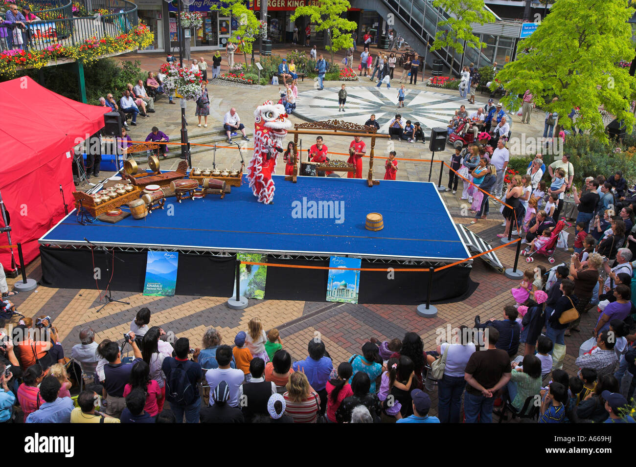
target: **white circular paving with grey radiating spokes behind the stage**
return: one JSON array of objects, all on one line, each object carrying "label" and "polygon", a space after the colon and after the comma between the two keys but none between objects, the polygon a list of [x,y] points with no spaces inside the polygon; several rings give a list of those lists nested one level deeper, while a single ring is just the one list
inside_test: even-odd
[{"label": "white circular paving with grey radiating spokes behind the stage", "polygon": [[455,97],[432,91],[406,89],[404,108],[397,108],[397,86],[387,89],[366,86],[347,86],[347,104],[345,112],[338,112],[338,90],[340,88],[324,88],[319,91],[312,89],[298,94],[295,114],[311,120],[343,119],[364,125],[369,116],[375,113],[380,123],[380,132],[389,131],[389,121],[396,113],[403,119],[418,121],[428,135],[431,128],[446,127],[448,121],[460,105],[466,105],[469,114],[485,103],[469,104],[466,98]]}]

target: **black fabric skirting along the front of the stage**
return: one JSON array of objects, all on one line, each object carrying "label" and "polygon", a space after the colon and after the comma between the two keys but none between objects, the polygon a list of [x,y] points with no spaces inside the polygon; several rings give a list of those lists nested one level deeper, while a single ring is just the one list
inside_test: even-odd
[{"label": "black fabric skirting along the front of the stage", "polygon": [[[40,247],[42,280],[45,287],[92,288],[106,290],[111,278],[111,290],[142,292],[146,276],[146,251],[116,251]],[[268,259],[277,264],[303,266],[329,266],[329,261],[305,259]],[[362,271],[359,303],[417,305],[427,299],[429,273],[399,273],[400,268],[413,268],[400,264],[378,264],[362,261],[361,267],[393,267],[389,272]],[[415,266],[420,267],[420,266]],[[97,273],[95,268],[99,268]],[[177,295],[230,297],[233,293],[236,257],[216,257],[206,254],[179,253]],[[453,266],[433,275],[432,302],[453,302],[474,290],[469,278],[471,268]],[[328,269],[298,269],[269,267],[265,286],[265,299],[325,301]],[[96,274],[99,276],[95,278]]]}]

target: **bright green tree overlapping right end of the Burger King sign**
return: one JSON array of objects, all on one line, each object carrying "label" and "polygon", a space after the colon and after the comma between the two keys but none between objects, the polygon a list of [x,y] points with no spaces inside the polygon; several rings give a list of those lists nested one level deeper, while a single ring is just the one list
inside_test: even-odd
[{"label": "bright green tree overlapping right end of the Burger King sign", "polygon": [[307,16],[316,24],[316,31],[326,31],[329,45],[325,48],[331,52],[333,63],[334,52],[354,46],[351,32],[357,29],[357,24],[342,17],[349,8],[351,4],[347,0],[321,0],[317,6],[299,6],[289,19],[295,21],[298,17]]}]

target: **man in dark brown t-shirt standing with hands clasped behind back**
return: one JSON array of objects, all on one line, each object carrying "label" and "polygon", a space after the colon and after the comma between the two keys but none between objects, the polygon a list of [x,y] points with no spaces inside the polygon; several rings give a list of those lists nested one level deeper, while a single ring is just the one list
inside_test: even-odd
[{"label": "man in dark brown t-shirt standing with hands clasped behind back", "polygon": [[499,331],[494,327],[485,330],[488,348],[475,352],[466,364],[466,394],[464,414],[466,423],[492,423],[494,393],[510,381],[512,367],[508,353],[495,346],[499,341]]}]

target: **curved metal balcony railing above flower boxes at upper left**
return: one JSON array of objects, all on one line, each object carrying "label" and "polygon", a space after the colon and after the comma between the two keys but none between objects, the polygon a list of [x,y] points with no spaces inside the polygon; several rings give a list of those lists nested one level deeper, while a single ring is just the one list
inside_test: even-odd
[{"label": "curved metal balcony railing above flower boxes at upper left", "polygon": [[[12,40],[12,48],[24,50],[44,50],[48,46],[74,46],[86,39],[101,39],[104,36],[119,36],[130,32],[137,26],[137,5],[126,0],[88,0],[92,11],[99,9],[109,11],[106,15],[95,13],[90,17],[73,17],[72,3],[68,3],[52,10],[43,10],[45,18],[27,24],[25,29],[16,25],[7,25],[8,34],[13,39],[20,34],[20,39]],[[56,16],[60,15],[60,16]],[[61,17],[64,15],[64,17]],[[39,17],[39,15],[36,15]],[[3,50],[8,43],[3,43]]]}]

